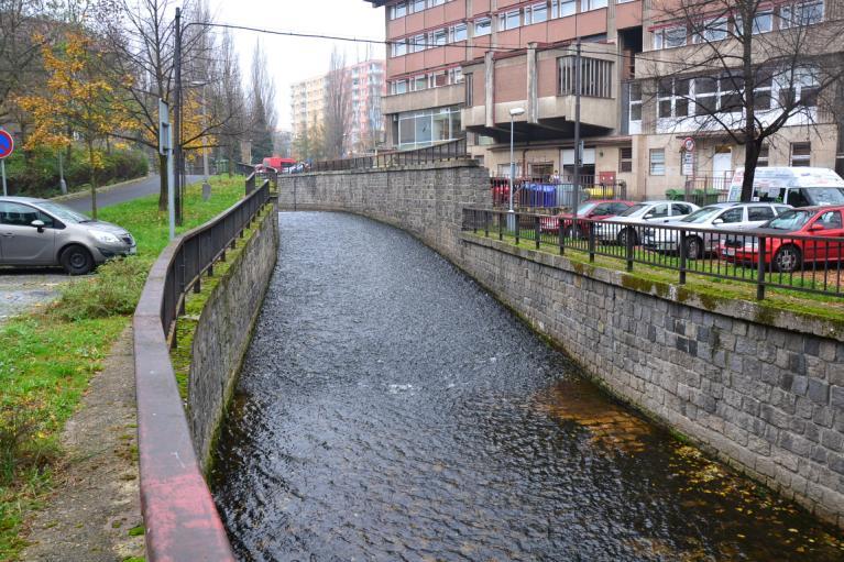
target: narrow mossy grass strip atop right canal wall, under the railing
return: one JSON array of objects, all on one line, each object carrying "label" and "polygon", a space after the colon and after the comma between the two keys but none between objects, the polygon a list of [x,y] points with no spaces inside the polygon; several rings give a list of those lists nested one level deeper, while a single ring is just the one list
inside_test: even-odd
[{"label": "narrow mossy grass strip atop right canal wall, under the railing", "polygon": [[[528,233],[528,231],[525,231]],[[472,234],[472,232],[467,232]],[[476,234],[479,238],[485,238],[483,230],[479,230]],[[529,231],[529,235],[533,236],[533,230]],[[491,240],[497,240],[497,231],[490,231]],[[516,244],[515,236],[507,234],[503,235],[503,241],[511,245],[517,245],[517,247],[525,250],[537,250],[536,241],[533,239],[526,240],[524,236],[519,238],[518,244]],[[573,240],[571,241],[574,242]],[[583,241],[579,241],[582,243]],[[569,243],[569,240],[567,240]],[[541,242],[539,244],[539,252],[559,255],[560,247],[557,243]],[[574,250],[573,247],[566,246],[566,258],[572,262],[572,265],[577,268],[583,269],[587,267],[602,267],[611,271],[625,271],[626,262],[623,257],[609,257],[596,255],[594,262],[589,261],[589,253]],[[668,265],[678,265],[677,257],[665,256]],[[694,261],[690,261],[690,267],[693,266]],[[742,267],[737,267],[736,271],[741,275]],[[754,280],[756,273],[753,268],[746,268],[747,279]],[[733,272],[733,266],[730,266],[730,272]],[[776,280],[779,274],[774,275]],[[800,290],[786,289],[779,287],[767,287],[765,293],[765,299],[756,300],[756,285],[755,283],[722,279],[715,277],[709,277],[700,273],[688,272],[686,277],[686,284],[679,285],[679,272],[668,268],[660,268],[653,265],[634,263],[633,272],[627,274],[626,286],[631,288],[640,288],[648,291],[649,287],[653,287],[657,294],[660,294],[662,287],[667,285],[677,285],[682,288],[679,298],[688,299],[690,296],[697,296],[701,302],[708,308],[714,308],[717,302],[728,300],[746,300],[755,302],[763,307],[764,311],[761,318],[756,320],[763,323],[766,322],[766,318],[769,319],[777,311],[782,310],[787,312],[794,312],[801,316],[814,317],[821,320],[827,320],[835,323],[842,330],[844,330],[844,299],[835,297],[833,295],[823,295],[816,293],[804,293]],[[798,280],[798,279],[794,279]]]}]

